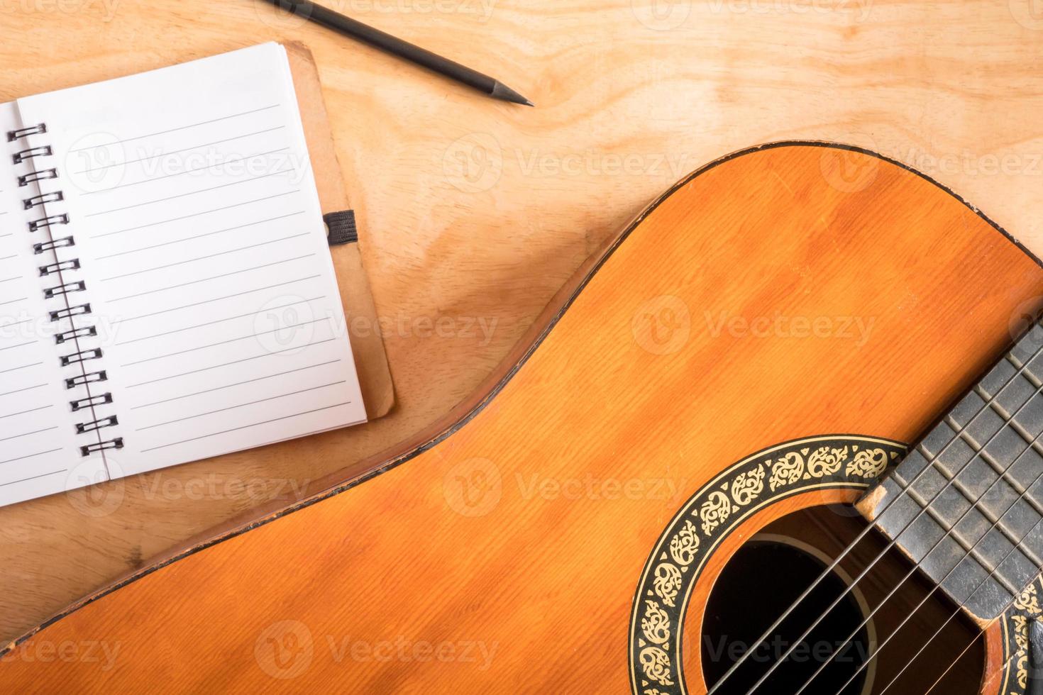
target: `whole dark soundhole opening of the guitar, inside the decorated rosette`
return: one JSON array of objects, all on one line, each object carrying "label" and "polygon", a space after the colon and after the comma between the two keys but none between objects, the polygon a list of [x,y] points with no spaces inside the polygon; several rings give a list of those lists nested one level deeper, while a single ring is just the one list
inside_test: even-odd
[{"label": "whole dark soundhole opening of the guitar, inside the decorated rosette", "polygon": [[[702,634],[685,636],[693,650],[700,645],[706,682],[717,682],[864,528],[850,507],[815,506],[776,519],[739,547],[713,585]],[[864,574],[794,650],[801,659],[787,659],[754,694],[792,695],[819,669],[823,654],[828,659],[845,649],[845,660],[823,668],[802,695],[976,695],[985,667],[980,630],[914,569],[897,549],[889,550],[882,536],[865,537],[801,601],[781,635],[759,647],[757,659],[749,659],[717,692],[747,695],[776,655],[845,593],[852,577]],[[845,646],[856,628],[853,644]],[[867,654],[870,663],[862,668]]]}]

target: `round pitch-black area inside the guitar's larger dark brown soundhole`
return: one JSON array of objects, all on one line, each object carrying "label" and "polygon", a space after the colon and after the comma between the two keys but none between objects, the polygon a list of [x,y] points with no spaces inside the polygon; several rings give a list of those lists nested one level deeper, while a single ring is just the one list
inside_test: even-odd
[{"label": "round pitch-black area inside the guitar's larger dark brown soundhole", "polygon": [[[795,545],[751,541],[725,566],[706,605],[701,640],[703,672],[715,684],[741,659],[778,616],[782,615],[825,569],[823,562]],[[758,693],[796,693],[815,675],[814,689],[805,692],[858,695],[869,669],[862,668],[870,653],[869,624],[859,627],[866,613],[846,581],[830,573],[811,595],[800,601],[775,636],[753,651],[738,671],[725,681],[721,693],[749,693],[760,677],[794,645],[793,652]],[[845,594],[841,602],[799,643],[798,638],[822,615],[823,609]],[[845,641],[855,632],[849,643]],[[836,652],[836,655],[832,656]],[[845,685],[847,684],[847,685]]]}]

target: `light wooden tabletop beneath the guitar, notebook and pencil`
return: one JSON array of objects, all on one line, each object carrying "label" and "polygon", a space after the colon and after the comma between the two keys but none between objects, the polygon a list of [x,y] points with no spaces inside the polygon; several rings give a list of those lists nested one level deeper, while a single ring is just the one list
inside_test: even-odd
[{"label": "light wooden tabletop beneath the guitar, notebook and pencil", "polygon": [[0,0],[6,99],[262,41],[309,44],[398,398],[336,461],[203,462],[0,510],[0,639],[446,413],[599,242],[729,151],[869,147],[1043,253],[1043,0],[328,4],[538,107],[476,96],[258,0]]}]

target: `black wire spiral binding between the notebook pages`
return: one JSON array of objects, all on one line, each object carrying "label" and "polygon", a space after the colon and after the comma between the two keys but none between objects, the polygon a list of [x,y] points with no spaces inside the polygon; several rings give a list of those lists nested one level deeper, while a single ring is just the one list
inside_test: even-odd
[{"label": "black wire spiral binding between the notebook pages", "polygon": [[[18,130],[7,131],[7,142],[13,143],[18,140],[28,138],[29,135],[40,134],[47,132],[47,124],[40,123],[26,128],[21,128]],[[50,145],[41,145],[37,147],[29,147],[20,152],[14,154],[15,164],[22,164],[29,159],[35,159],[38,157],[49,157],[53,156],[54,151]],[[38,169],[35,171],[29,172],[18,177],[19,187],[26,187],[30,183],[37,181],[42,181],[46,179],[58,178],[58,172],[56,168],[50,169]],[[47,205],[48,203],[57,203],[65,200],[65,194],[62,191],[54,191],[50,193],[40,193],[39,195],[25,198],[22,203],[25,205],[25,209],[32,209],[34,207],[40,207]],[[62,237],[55,239],[52,231],[55,227],[69,224],[69,215],[66,213],[60,213],[56,215],[44,215],[43,217],[32,220],[29,222],[29,232],[35,233],[42,230],[48,232],[50,237],[47,241],[39,242],[32,245],[33,252],[37,254],[45,253],[47,251],[53,251],[59,248],[67,248],[76,246],[75,237]],[[69,298],[71,295],[76,293],[87,291],[87,282],[84,280],[67,280],[65,273],[70,273],[80,269],[79,258],[72,258],[68,260],[60,260],[57,263],[52,263],[49,265],[40,266],[40,276],[50,277],[52,275],[56,276],[58,284],[44,289],[45,299],[57,299],[66,298],[65,308],[56,309],[49,313],[50,320],[52,322],[62,321],[63,319],[72,319],[76,316],[87,316],[91,314],[91,304],[82,303],[73,305]],[[57,345],[64,345],[69,341],[76,341],[80,338],[93,338],[98,334],[98,329],[91,326],[80,326],[78,328],[72,328],[54,336],[54,341]],[[63,355],[60,357],[62,367],[73,367],[82,366],[88,362],[95,359],[100,359],[103,356],[101,348],[92,348],[78,350],[71,354]],[[82,367],[81,367],[82,368]],[[108,380],[108,374],[104,370],[98,370],[94,372],[83,372],[77,376],[73,376],[66,379],[67,389],[75,389],[81,386],[88,386],[91,383],[100,383]],[[113,395],[111,393],[103,393],[97,396],[89,396],[87,398],[79,398],[77,400],[69,401],[73,413],[78,413],[83,409],[91,409],[98,405],[107,405],[113,402]],[[93,412],[93,411],[92,411]],[[103,418],[97,418],[88,422],[80,422],[76,424],[76,432],[79,435],[88,435],[95,432],[99,429],[104,429],[105,427],[115,427],[119,424],[119,419],[117,416],[106,416]],[[89,456],[92,453],[98,451],[105,451],[107,449],[122,449],[123,448],[123,438],[115,437],[111,440],[101,441],[98,438],[98,443],[88,444],[81,446],[80,453],[84,456]]]}]

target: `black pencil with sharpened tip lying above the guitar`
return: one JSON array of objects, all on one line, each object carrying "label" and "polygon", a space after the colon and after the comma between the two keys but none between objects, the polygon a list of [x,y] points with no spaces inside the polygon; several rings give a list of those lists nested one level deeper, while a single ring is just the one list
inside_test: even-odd
[{"label": "black pencil with sharpened tip lying above the guitar", "polygon": [[483,75],[477,70],[471,70],[470,68],[450,60],[448,58],[443,58],[442,56],[425,50],[419,46],[415,46],[408,41],[396,39],[389,33],[385,33],[380,29],[374,29],[373,27],[353,20],[349,17],[344,17],[343,15],[335,13],[328,7],[317,5],[310,0],[267,1],[271,2],[281,9],[311,20],[316,24],[321,24],[322,26],[329,27],[334,31],[344,34],[345,36],[350,36],[351,39],[369,44],[374,48],[381,49],[382,51],[387,51],[392,55],[415,63],[418,66],[427,68],[428,70],[444,75],[450,79],[462,82],[463,84],[474,88],[482,94],[492,97],[493,99],[510,101],[515,104],[525,104],[527,106],[535,106],[534,103],[498,79],[493,79],[488,75]]}]

